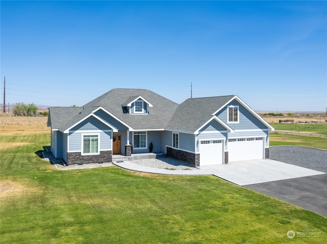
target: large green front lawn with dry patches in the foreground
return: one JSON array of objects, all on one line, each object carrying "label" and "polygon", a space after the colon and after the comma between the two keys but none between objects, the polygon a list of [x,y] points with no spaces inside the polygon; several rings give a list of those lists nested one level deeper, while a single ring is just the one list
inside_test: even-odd
[{"label": "large green front lawn with dry patches in the foreground", "polygon": [[12,187],[1,196],[2,244],[327,242],[326,217],[217,177],[56,170],[38,156],[49,140],[1,134],[1,183]]}]

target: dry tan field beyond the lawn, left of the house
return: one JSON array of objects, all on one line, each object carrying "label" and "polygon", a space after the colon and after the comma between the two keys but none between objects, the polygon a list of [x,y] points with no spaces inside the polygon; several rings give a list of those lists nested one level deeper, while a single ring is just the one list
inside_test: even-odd
[{"label": "dry tan field beyond the lawn, left of the house", "polygon": [[21,117],[6,116],[0,117],[0,131],[49,131],[50,127],[46,126],[48,117]]}]

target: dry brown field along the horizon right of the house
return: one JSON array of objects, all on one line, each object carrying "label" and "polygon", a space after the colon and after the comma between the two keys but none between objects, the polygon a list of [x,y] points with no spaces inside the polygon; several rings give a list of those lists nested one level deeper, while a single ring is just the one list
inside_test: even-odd
[{"label": "dry brown field along the horizon right of the house", "polygon": [[261,117],[263,117],[268,123],[278,123],[279,119],[294,119],[294,123],[303,123],[303,122],[311,122],[317,121],[318,123],[325,123],[327,119],[325,117],[325,113],[296,113],[291,112],[293,116],[288,116],[289,112],[281,112],[284,116],[269,116],[269,115],[262,115],[268,112],[260,112],[258,113]]}]

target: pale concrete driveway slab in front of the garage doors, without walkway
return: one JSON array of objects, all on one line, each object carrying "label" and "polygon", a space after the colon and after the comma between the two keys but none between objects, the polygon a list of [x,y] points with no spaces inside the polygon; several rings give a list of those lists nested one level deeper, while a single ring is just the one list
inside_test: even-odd
[{"label": "pale concrete driveway slab in front of the garage doors, without walkway", "polygon": [[241,186],[325,174],[271,159],[238,161],[199,168]]}]

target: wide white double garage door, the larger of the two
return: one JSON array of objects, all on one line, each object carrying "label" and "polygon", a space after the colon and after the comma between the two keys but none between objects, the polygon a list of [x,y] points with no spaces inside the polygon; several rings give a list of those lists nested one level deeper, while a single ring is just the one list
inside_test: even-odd
[{"label": "wide white double garage door, the larger of the two", "polygon": [[228,162],[263,159],[264,138],[228,139]]}]

